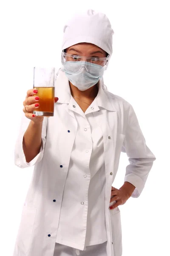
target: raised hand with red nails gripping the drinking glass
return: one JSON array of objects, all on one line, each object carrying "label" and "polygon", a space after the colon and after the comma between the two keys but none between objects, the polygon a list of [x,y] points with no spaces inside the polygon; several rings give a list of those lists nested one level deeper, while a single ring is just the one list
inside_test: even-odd
[{"label": "raised hand with red nails gripping the drinking glass", "polygon": [[[31,119],[34,122],[42,122],[44,119],[44,116],[36,116],[35,114],[33,114],[33,111],[36,108],[39,108],[39,103],[38,103],[39,97],[36,96],[37,92],[38,91],[34,89],[30,89],[27,91],[26,99],[23,102],[23,105],[24,105],[23,112],[25,113],[25,116],[28,119]],[[55,97],[54,100],[55,102],[57,102],[58,98]],[[26,111],[28,111],[29,113],[27,113]]]}]

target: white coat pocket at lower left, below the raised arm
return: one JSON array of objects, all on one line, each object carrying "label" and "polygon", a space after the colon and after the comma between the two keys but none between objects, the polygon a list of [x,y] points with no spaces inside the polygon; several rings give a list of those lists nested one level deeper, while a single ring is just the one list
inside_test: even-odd
[{"label": "white coat pocket at lower left, below the raised arm", "polygon": [[24,254],[28,252],[30,246],[36,211],[34,207],[23,206],[16,242]]}]

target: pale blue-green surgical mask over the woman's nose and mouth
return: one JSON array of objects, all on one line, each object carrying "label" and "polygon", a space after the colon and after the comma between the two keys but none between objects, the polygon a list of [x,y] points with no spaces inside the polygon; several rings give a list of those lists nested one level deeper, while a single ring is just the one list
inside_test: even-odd
[{"label": "pale blue-green surgical mask over the woman's nose and mouth", "polygon": [[97,84],[99,78],[102,78],[105,66],[87,61],[65,61],[62,70],[71,84],[85,91]]}]

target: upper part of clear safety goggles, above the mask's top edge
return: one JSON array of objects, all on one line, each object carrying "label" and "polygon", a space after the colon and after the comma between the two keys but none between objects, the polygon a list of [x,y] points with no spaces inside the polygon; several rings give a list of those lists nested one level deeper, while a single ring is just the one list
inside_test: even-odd
[{"label": "upper part of clear safety goggles, above the mask's top edge", "polygon": [[66,52],[62,52],[62,56],[61,56],[62,65],[66,61],[74,61],[74,62],[79,62],[79,61],[84,62],[85,61],[85,62],[88,62],[88,63],[100,65],[102,67],[105,67],[105,69],[108,66],[109,59],[110,59],[110,57],[106,57],[106,58],[84,57],[84,56],[68,54]]}]

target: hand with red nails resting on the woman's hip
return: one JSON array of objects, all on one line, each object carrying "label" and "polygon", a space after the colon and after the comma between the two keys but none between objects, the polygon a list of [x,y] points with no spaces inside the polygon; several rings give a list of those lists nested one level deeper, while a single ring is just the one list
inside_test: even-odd
[{"label": "hand with red nails resting on the woman's hip", "polygon": [[131,195],[129,195],[127,190],[125,190],[123,188],[116,189],[112,186],[111,197],[112,196],[113,196],[113,198],[111,198],[110,203],[113,201],[116,201],[116,203],[114,205],[112,205],[111,207],[109,207],[109,209],[115,209],[119,205],[125,204]]}]

